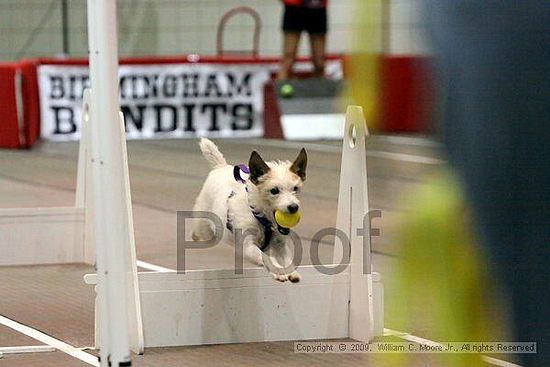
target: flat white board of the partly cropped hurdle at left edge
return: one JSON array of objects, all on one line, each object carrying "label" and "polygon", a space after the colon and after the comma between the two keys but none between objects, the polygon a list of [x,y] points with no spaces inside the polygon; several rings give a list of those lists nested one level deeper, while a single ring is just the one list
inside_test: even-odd
[{"label": "flat white board of the partly cropped hurdle at left edge", "polygon": [[84,209],[0,209],[0,266],[84,262]]}]

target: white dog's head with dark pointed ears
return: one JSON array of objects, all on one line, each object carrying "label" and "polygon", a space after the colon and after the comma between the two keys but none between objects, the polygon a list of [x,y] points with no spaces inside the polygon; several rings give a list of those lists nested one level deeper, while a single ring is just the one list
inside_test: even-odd
[{"label": "white dog's head with dark pointed ears", "polygon": [[250,182],[254,185],[249,195],[258,210],[267,215],[272,215],[275,210],[291,214],[298,211],[298,194],[306,179],[307,153],[304,148],[294,162],[265,162],[253,151],[248,167]]}]

